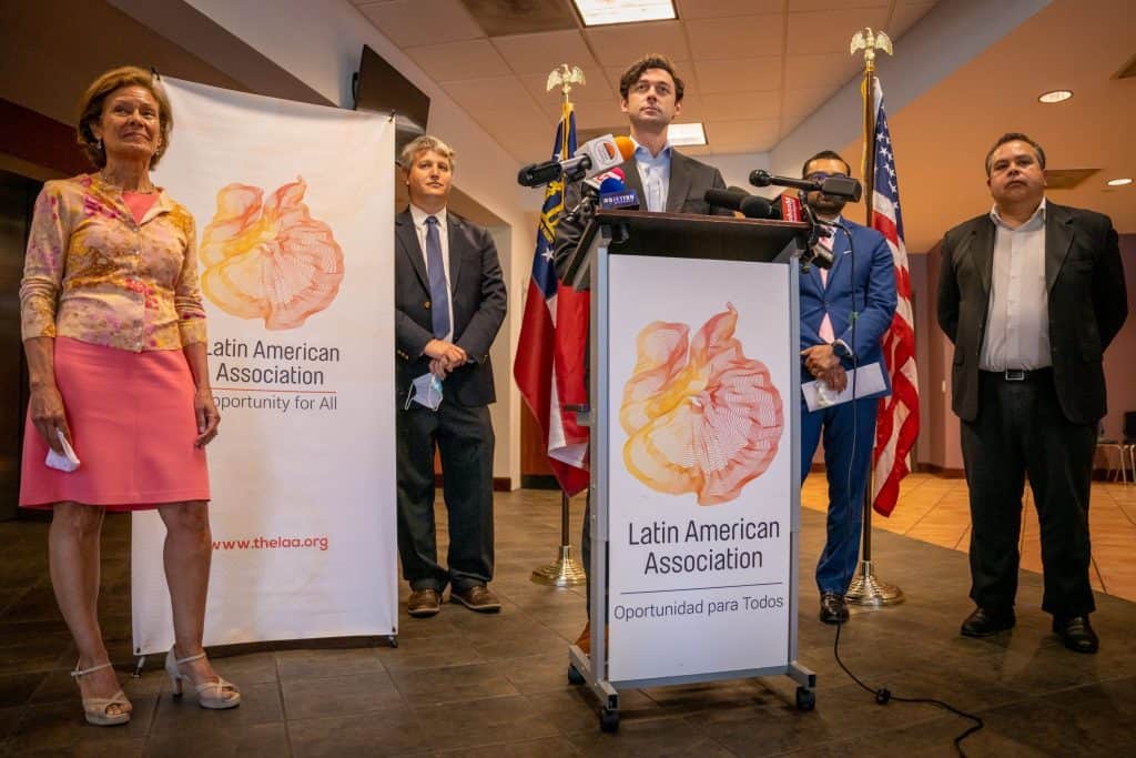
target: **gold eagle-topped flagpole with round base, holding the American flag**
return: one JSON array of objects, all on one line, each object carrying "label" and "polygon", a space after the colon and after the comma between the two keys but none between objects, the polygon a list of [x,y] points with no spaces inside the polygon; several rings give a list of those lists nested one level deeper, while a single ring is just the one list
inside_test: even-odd
[{"label": "gold eagle-topped flagpole with round base, holding the American flag", "polygon": [[[851,52],[863,50],[863,198],[866,218],[864,225],[872,227],[872,193],[876,181],[876,51],[883,50],[892,53],[892,41],[887,34],[879,32],[874,34],[871,28],[863,28],[852,35]],[[894,606],[903,602],[903,590],[894,584],[888,584],[876,577],[875,567],[871,561],[871,493],[874,486],[874,466],[871,457],[868,459],[868,485],[863,491],[863,525],[861,530],[861,552],[860,570],[847,592],[844,593],[846,602],[857,606]]]}]

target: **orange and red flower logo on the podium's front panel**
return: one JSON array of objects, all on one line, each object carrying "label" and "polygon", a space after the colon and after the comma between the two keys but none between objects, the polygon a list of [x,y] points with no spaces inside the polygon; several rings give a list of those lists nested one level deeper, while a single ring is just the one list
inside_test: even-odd
[{"label": "orange and red flower logo on the podium's front panel", "polygon": [[688,344],[686,324],[653,322],[624,386],[619,422],[627,470],[657,492],[729,502],[777,455],[782,399],[760,360],[734,338],[737,310],[708,320]]}]

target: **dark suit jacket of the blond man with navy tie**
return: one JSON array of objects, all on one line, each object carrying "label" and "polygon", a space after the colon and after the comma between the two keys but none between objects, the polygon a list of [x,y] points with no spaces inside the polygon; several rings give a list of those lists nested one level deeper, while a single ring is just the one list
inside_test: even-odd
[{"label": "dark suit jacket of the blond man with navy tie", "polygon": [[[481,226],[446,211],[450,245],[450,315],[453,343],[469,363],[453,370],[444,395],[463,406],[486,406],[493,391],[490,347],[504,320],[507,300],[501,263],[493,238]],[[394,217],[394,345],[395,389],[406,398],[410,383],[429,370],[423,355],[434,339],[426,259],[410,209]]]}]

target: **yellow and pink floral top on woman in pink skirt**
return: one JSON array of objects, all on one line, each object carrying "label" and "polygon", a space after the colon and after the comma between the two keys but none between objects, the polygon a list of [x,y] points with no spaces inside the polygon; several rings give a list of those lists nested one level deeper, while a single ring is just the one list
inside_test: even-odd
[{"label": "yellow and pink floral top on woman in pink skirt", "polygon": [[157,192],[137,223],[98,175],[43,185],[19,288],[25,340],[67,336],[134,352],[206,341],[193,217]]}]

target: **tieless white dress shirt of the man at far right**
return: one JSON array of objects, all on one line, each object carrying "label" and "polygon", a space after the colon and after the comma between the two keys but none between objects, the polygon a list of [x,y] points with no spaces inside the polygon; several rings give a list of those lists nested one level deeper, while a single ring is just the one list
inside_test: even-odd
[{"label": "tieless white dress shirt of the man at far right", "polygon": [[1045,199],[1025,224],[994,222],[994,266],[986,314],[986,335],[978,367],[1031,370],[1053,365],[1050,355],[1050,307],[1045,289]]}]

